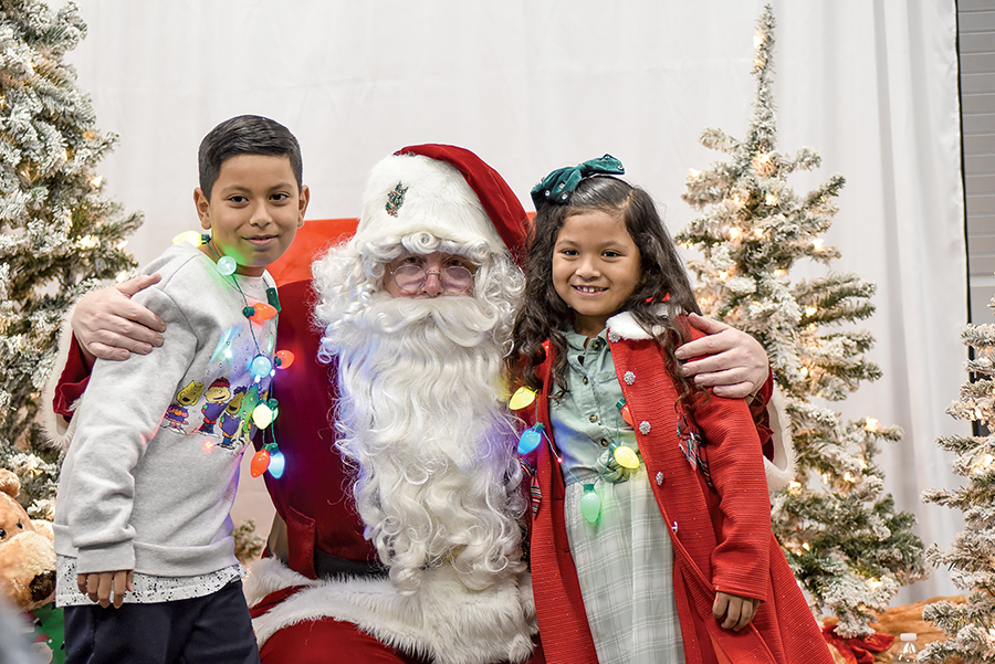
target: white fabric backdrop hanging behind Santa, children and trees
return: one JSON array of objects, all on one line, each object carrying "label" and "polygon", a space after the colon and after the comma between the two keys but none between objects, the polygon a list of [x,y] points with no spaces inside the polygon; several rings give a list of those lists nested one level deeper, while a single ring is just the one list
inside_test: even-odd
[{"label": "white fabric backdrop hanging behind Santa, children and trees", "polygon": [[[698,136],[742,137],[761,0],[76,0],[88,36],[69,55],[98,126],[121,135],[105,187],[146,213],[142,262],[197,228],[191,191],[206,131],[238,114],[287,125],[304,147],[310,219],[353,217],[366,172],[409,144],[469,147],[526,209],[553,168],[610,152],[666,205],[672,230],[689,168],[722,156]],[[51,0],[53,6],[60,0]],[[920,493],[955,486],[934,440],[966,432],[944,414],[966,357],[955,8],[952,0],[778,0],[775,96],[782,150],[823,156],[806,191],[847,178],[827,244],[878,284],[866,325],[884,371],[841,409],[899,424],[882,455],[889,491],[926,542],[961,524]],[[796,273],[803,276],[803,266]],[[811,266],[808,275],[821,273]],[[235,519],[268,528],[245,477]],[[954,592],[945,570],[899,601]]]}]

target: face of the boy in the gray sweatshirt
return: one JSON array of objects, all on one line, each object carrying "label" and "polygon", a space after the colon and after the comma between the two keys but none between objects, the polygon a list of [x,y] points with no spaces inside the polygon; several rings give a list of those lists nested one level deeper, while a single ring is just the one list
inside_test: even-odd
[{"label": "face of the boy in the gray sweatshirt", "polygon": [[[304,225],[310,191],[297,189],[285,156],[238,155],[221,164],[208,200],[193,192],[200,225],[218,253],[238,262],[238,274],[259,276],[290,247]],[[203,247],[207,255],[217,256]]]}]

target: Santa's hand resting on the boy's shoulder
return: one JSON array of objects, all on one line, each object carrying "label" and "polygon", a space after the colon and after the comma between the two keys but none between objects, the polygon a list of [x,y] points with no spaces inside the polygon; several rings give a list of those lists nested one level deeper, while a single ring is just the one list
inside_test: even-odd
[{"label": "Santa's hand resting on the boy's shoulder", "polygon": [[163,345],[163,319],[132,302],[133,295],[159,278],[158,274],[139,275],[80,298],[70,325],[90,365],[97,357],[126,360],[129,352],[148,355],[154,346]]}]

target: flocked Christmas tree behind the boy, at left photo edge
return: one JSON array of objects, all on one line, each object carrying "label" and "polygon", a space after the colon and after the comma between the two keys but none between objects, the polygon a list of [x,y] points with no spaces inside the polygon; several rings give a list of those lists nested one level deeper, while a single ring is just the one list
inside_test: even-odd
[{"label": "flocked Christmas tree behind the boy, at left photo edge", "polygon": [[51,518],[59,453],[36,422],[60,322],[100,280],[134,267],[142,222],[102,192],[116,137],[95,125],[63,62],[86,33],[76,7],[0,0],[0,467],[32,517]]}]

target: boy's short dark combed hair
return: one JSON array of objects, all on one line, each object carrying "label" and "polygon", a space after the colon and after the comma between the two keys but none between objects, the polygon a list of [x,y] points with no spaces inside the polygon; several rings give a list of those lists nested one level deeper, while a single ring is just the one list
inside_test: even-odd
[{"label": "boy's short dark combed hair", "polygon": [[211,189],[221,172],[221,165],[239,155],[285,156],[297,180],[297,190],[304,185],[301,145],[290,129],[268,117],[239,115],[219,124],[200,141],[197,162],[205,198],[211,200]]}]

